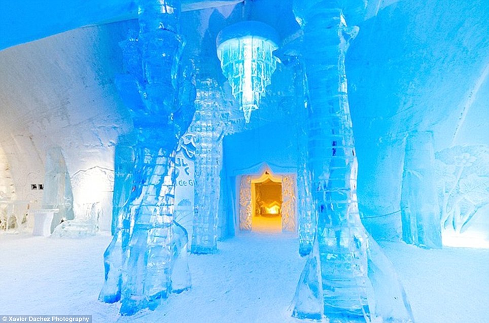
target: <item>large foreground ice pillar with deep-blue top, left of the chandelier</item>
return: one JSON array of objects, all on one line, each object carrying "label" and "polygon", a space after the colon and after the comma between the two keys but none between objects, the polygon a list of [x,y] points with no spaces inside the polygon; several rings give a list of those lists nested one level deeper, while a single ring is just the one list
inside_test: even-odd
[{"label": "large foreground ice pillar with deep-blue top, left of the chandelier", "polygon": [[174,151],[195,111],[193,76],[180,64],[181,5],[179,0],[138,5],[139,33],[121,44],[127,74],[116,79],[134,122],[133,185],[104,253],[99,295],[105,302],[121,300],[123,315],[154,309],[169,293],[190,287],[187,232],[173,221]]}]

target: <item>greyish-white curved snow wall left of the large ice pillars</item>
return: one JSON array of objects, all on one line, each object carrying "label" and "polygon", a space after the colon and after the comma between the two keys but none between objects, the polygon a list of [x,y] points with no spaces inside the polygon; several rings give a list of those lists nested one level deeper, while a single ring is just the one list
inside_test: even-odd
[{"label": "greyish-white curved snow wall left of the large ice pillars", "polygon": [[[74,203],[92,201],[100,184],[111,184],[91,172],[113,169],[115,142],[132,127],[113,84],[121,68],[117,42],[128,25],[77,29],[0,52],[0,142],[17,199],[31,201],[31,209],[41,207],[43,191],[31,190],[31,184],[44,183],[52,147],[62,149],[70,176],[78,172]],[[106,195],[112,192],[99,196],[101,230],[110,230]]]}]

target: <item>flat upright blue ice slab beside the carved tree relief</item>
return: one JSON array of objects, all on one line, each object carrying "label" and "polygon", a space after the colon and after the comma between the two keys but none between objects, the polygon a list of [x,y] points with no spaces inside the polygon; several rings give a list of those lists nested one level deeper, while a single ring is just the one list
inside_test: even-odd
[{"label": "flat upright blue ice slab beside the carved tree relief", "polygon": [[425,248],[441,248],[433,134],[415,132],[406,139],[402,175],[402,239]]}]

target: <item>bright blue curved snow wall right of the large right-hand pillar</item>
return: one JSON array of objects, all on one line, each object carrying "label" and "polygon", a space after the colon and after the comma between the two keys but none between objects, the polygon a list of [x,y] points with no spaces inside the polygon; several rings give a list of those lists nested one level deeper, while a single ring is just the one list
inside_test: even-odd
[{"label": "bright blue curved snow wall right of the large right-hand pillar", "polygon": [[[406,136],[432,131],[435,155],[452,145],[488,144],[489,8],[461,0],[383,6],[359,24],[346,71],[361,134],[362,221],[376,238],[399,239]],[[487,228],[485,214],[481,209],[475,219]]]}]

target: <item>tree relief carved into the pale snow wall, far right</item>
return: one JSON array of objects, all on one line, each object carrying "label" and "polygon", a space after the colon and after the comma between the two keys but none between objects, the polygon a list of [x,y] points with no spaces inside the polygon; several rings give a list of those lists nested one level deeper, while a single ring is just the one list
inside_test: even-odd
[{"label": "tree relief carved into the pale snow wall, far right", "polygon": [[435,157],[442,228],[462,233],[489,204],[489,147],[455,146]]}]

